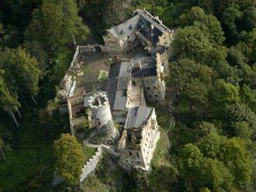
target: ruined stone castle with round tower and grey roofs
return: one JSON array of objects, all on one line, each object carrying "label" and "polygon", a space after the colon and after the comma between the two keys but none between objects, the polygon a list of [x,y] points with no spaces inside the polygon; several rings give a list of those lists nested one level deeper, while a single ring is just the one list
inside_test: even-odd
[{"label": "ruined stone castle with round tower and grey roofs", "polygon": [[136,10],[131,19],[106,31],[104,46],[82,46],[75,54],[74,63],[88,49],[112,58],[106,90],[87,93],[85,87],[74,94],[75,78],[65,77],[62,93],[67,94],[72,134],[81,135],[86,123],[95,127],[101,144],[114,146],[124,168],[150,168],[160,132],[149,106],[164,101],[172,36],[158,17]]}]

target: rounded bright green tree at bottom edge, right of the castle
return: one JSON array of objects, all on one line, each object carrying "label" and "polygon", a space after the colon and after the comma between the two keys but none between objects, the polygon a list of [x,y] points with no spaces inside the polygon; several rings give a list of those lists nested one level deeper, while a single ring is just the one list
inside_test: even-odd
[{"label": "rounded bright green tree at bottom edge, right of the castle", "polygon": [[179,161],[187,190],[199,191],[202,187],[213,192],[230,190],[233,182],[230,171],[219,160],[202,156],[197,146],[185,145]]}]

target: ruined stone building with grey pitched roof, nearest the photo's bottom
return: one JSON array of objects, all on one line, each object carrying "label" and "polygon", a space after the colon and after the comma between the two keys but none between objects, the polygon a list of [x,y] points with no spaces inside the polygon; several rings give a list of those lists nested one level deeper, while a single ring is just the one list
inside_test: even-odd
[{"label": "ruined stone building with grey pitched roof, nearest the photo's bottom", "polygon": [[148,170],[159,135],[154,108],[130,108],[119,140],[119,163],[126,169]]}]

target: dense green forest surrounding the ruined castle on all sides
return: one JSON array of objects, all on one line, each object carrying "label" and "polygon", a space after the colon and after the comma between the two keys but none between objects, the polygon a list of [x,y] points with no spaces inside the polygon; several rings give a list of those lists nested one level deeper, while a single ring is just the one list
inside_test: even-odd
[{"label": "dense green forest surrounding the ruined castle on all sides", "polygon": [[51,186],[62,149],[54,140],[70,131],[47,105],[74,44],[102,43],[105,29],[144,8],[175,29],[168,86],[176,98],[171,115],[158,117],[170,146],[149,174],[108,171],[106,160],[75,191],[256,191],[255,3],[0,1],[0,191],[74,191],[74,183]]}]

